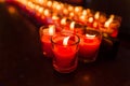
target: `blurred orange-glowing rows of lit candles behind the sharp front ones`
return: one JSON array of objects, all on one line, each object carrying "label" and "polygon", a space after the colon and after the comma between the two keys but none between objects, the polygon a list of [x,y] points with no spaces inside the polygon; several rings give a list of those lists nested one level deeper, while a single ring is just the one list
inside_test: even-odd
[{"label": "blurred orange-glowing rows of lit candles behind the sharp front ones", "polygon": [[35,14],[35,17],[46,25],[61,26],[61,24],[70,25],[75,22],[82,26],[99,29],[112,38],[118,35],[121,17],[117,15],[106,15],[103,12],[95,12],[54,0],[17,0],[17,2],[25,5],[24,9]]}]

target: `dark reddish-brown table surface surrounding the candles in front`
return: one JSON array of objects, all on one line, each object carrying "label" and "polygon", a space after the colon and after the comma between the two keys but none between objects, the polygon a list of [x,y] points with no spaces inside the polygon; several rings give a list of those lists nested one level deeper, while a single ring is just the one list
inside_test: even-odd
[{"label": "dark reddish-brown table surface surrounding the candles in front", "polygon": [[75,72],[60,74],[42,55],[38,27],[0,3],[0,86],[130,86],[129,43],[120,40],[116,59],[79,62]]}]

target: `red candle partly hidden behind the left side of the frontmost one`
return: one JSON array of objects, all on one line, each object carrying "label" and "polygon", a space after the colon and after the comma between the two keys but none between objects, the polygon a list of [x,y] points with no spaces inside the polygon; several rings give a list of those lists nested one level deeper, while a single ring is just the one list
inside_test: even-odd
[{"label": "red candle partly hidden behind the left side of the frontmost one", "polygon": [[42,43],[43,55],[49,58],[53,57],[50,38],[54,33],[55,33],[54,25],[40,27],[40,38],[41,38],[41,43]]}]

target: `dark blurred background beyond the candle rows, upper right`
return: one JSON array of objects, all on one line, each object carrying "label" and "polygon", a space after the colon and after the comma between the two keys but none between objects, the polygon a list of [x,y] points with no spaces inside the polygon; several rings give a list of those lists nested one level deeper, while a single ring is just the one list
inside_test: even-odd
[{"label": "dark blurred background beyond the candle rows, upper right", "polygon": [[57,0],[70,4],[78,4],[106,14],[119,15],[122,18],[119,37],[130,37],[130,0]]}]

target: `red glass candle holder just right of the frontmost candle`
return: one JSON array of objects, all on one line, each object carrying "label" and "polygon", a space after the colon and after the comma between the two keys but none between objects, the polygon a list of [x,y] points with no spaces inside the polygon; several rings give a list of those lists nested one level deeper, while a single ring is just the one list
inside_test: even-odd
[{"label": "red glass candle holder just right of the frontmost candle", "polygon": [[79,60],[83,62],[93,62],[96,59],[102,34],[99,30],[87,29],[86,34],[80,37]]}]

